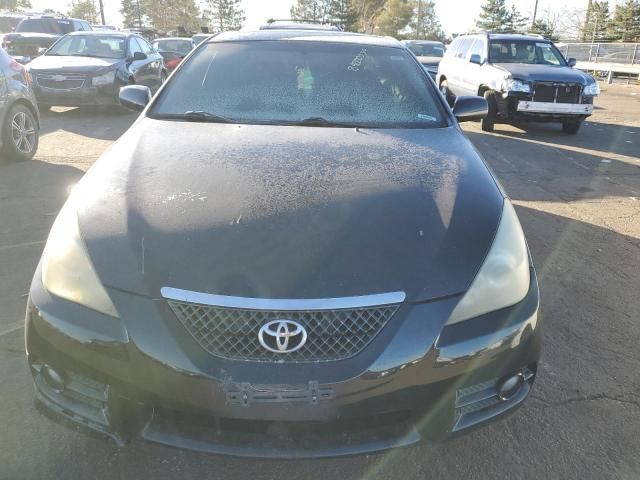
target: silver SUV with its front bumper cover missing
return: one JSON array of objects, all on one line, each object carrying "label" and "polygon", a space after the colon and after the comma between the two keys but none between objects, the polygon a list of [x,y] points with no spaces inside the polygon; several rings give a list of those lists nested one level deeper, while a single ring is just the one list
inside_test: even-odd
[{"label": "silver SUV with its front bumper cover missing", "polygon": [[600,89],[574,65],[540,36],[463,35],[447,49],[436,81],[451,105],[460,95],[487,99],[484,131],[493,131],[495,123],[534,121],[560,122],[565,133],[575,134]]}]

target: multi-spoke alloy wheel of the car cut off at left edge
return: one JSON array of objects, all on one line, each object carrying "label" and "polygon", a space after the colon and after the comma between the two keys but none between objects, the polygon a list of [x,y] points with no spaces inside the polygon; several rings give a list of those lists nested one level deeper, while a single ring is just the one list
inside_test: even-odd
[{"label": "multi-spoke alloy wheel of the car cut off at left edge", "polygon": [[38,150],[35,117],[26,106],[11,107],[2,126],[2,154],[12,160],[30,160]]}]

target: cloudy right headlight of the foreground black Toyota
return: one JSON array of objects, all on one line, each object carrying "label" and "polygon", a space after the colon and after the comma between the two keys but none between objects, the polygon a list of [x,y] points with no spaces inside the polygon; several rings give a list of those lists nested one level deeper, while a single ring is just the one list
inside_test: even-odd
[{"label": "cloudy right headlight of the foreground black Toyota", "polygon": [[527,244],[516,211],[505,200],[491,250],[447,325],[515,305],[527,295],[529,283]]}]

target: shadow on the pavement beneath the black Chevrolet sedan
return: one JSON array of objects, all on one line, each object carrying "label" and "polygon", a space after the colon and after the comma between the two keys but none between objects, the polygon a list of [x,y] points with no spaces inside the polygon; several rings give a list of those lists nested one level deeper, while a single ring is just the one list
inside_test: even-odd
[{"label": "shadow on the pavement beneath the black Chevrolet sedan", "polygon": [[122,107],[55,108],[42,111],[40,134],[59,130],[100,140],[117,140],[138,118]]}]

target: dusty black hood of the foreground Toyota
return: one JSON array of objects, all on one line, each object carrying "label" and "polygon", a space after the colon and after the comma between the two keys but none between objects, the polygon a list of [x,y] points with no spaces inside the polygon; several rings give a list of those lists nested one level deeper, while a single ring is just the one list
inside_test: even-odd
[{"label": "dusty black hood of the foreground Toyota", "polygon": [[468,289],[503,197],[457,127],[141,118],[74,198],[107,286],[259,298]]}]

